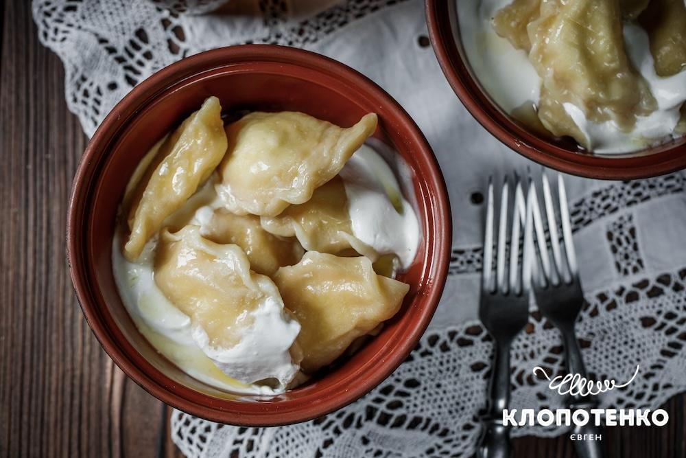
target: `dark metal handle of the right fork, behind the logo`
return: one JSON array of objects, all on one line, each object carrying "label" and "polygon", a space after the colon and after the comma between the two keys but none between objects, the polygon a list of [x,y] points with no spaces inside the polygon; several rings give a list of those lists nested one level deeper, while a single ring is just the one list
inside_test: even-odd
[{"label": "dark metal handle of the right fork, behind the logo", "polygon": [[[567,350],[567,369],[569,369],[570,374],[579,374],[580,376],[586,378],[586,367],[584,366],[584,360],[581,356],[581,350],[579,348],[579,343],[576,340],[576,333],[574,328],[562,328],[560,330],[563,334],[563,341],[565,342],[565,350]],[[595,396],[588,396],[587,398],[582,398],[581,396],[571,396],[567,400],[569,409],[575,411],[578,409],[583,409],[591,413],[591,409],[598,407],[598,400]],[[592,435],[591,440],[576,440],[574,441],[574,450],[579,458],[602,458],[605,456],[600,441],[596,441],[596,437],[602,437],[603,428],[602,426],[596,426],[595,424],[589,423],[584,426],[574,426],[572,432],[576,435]]]}]

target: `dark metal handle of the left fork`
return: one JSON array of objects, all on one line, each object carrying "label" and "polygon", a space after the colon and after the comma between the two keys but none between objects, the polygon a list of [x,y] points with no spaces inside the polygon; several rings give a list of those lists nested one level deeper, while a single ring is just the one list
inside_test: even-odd
[{"label": "dark metal handle of the left fork", "polygon": [[510,343],[496,343],[493,372],[490,376],[487,413],[482,418],[480,458],[510,457],[510,426],[502,422],[503,410],[510,403]]}]

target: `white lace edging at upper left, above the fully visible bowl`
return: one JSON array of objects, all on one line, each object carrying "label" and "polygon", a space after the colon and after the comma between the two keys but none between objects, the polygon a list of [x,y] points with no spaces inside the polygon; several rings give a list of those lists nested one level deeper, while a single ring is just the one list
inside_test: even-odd
[{"label": "white lace edging at upper left, above the fully visible bowl", "polygon": [[[401,1],[348,0],[292,23],[286,19],[289,1],[261,0],[261,27],[236,23],[228,34],[203,38],[191,33],[199,26],[194,15],[226,0],[34,0],[33,15],[41,43],[64,62],[67,106],[91,137],[132,87],[180,58],[244,43],[305,47]],[[73,52],[73,43],[81,52]]]}]

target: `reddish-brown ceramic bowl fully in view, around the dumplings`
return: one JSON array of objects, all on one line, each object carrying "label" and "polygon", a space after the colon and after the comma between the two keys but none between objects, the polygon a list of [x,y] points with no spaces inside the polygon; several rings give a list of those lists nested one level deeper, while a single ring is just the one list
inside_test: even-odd
[{"label": "reddish-brown ceramic bowl fully in view, around the dumplings", "polygon": [[[126,312],[111,267],[117,206],[143,154],[209,95],[224,109],[292,110],[351,126],[379,115],[375,137],[409,165],[423,238],[403,274],[410,293],[379,336],[307,384],[273,397],[227,393],[191,378],[158,354]],[[67,222],[68,256],[86,321],[110,357],[153,396],[216,422],[268,426],[302,422],[353,402],[407,357],[434,314],[447,275],[451,217],[445,183],[421,131],[376,84],[307,51],[244,45],[207,51],[162,69],[106,117],[75,176]]]}]

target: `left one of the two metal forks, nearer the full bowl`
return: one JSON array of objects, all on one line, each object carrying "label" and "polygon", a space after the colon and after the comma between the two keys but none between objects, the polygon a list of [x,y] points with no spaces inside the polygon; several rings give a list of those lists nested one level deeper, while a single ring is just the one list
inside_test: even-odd
[{"label": "left one of the two metal forks, nearer the full bowl", "polygon": [[[526,325],[529,314],[529,273],[533,245],[520,242],[521,227],[525,220],[525,235],[532,229],[530,212],[526,211],[521,183],[517,180],[514,198],[510,204],[510,184],[506,179],[500,193],[497,258],[493,275],[493,181],[488,181],[486,229],[484,232],[484,264],[479,317],[495,343],[490,378],[490,396],[480,439],[479,456],[507,458],[510,456],[510,427],[502,424],[503,409],[510,402],[510,343]],[[508,218],[512,214],[511,222]],[[510,259],[506,260],[510,235]],[[531,240],[531,236],[524,237]],[[519,261],[520,244],[522,261]],[[508,266],[509,264],[509,266]]]}]

